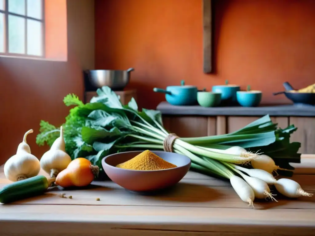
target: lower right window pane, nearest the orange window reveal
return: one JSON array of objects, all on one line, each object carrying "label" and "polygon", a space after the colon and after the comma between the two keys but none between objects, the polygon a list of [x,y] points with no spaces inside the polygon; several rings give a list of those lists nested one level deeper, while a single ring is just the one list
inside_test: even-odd
[{"label": "lower right window pane, nearest the orange window reveal", "polygon": [[27,20],[27,54],[42,55],[42,23],[37,20]]}]

